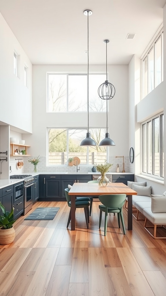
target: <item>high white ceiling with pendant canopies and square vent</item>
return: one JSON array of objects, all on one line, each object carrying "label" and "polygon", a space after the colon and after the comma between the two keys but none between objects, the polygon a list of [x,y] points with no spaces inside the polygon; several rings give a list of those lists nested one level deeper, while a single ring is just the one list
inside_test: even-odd
[{"label": "high white ceiling with pendant canopies and square vent", "polygon": [[[140,57],[163,21],[166,0],[0,0],[0,12],[34,65],[128,64]],[[136,33],[126,40],[128,33]]]}]

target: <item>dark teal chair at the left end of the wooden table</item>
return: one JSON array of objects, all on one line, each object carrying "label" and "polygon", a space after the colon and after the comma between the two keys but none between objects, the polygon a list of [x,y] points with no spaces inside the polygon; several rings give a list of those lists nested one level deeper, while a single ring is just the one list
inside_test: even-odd
[{"label": "dark teal chair at the left end of the wooden table", "polygon": [[[66,195],[66,200],[67,200],[68,206],[71,208],[71,197],[69,195],[69,189],[68,188],[65,189],[65,195]],[[89,205],[90,205],[89,201],[87,201],[87,200],[79,200],[79,201],[77,201],[77,199],[76,199],[75,203],[76,203],[75,210],[77,208],[84,208],[87,229],[89,229]],[[68,221],[67,221],[67,228],[69,227],[70,221],[71,221],[71,209],[70,209],[69,218],[68,218]]]}]

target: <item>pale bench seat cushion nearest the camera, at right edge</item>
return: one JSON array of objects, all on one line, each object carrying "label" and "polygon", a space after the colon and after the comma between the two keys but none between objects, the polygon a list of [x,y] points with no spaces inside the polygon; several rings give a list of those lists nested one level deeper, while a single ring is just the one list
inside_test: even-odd
[{"label": "pale bench seat cushion nearest the camera, at right edge", "polygon": [[166,213],[152,213],[151,208],[145,208],[143,215],[153,224],[166,224]]}]

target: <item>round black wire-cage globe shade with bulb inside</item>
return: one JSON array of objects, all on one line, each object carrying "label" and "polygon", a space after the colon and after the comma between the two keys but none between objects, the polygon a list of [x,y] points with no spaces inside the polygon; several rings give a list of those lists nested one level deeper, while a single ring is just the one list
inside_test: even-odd
[{"label": "round black wire-cage globe shade with bulb inside", "polygon": [[99,86],[98,95],[103,100],[110,100],[115,95],[115,87],[113,86],[113,84],[108,82],[108,80],[106,80]]}]

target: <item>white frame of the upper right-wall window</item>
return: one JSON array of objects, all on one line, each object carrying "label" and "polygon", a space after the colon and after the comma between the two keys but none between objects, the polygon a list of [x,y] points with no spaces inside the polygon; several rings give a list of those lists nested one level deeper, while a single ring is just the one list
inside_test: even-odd
[{"label": "white frame of the upper right-wall window", "polygon": [[[144,54],[144,56],[141,58],[141,81],[142,81],[142,86],[141,86],[141,99],[144,99],[146,95],[144,95],[144,89],[147,89],[147,94],[149,94],[151,91],[149,91],[149,54],[152,51],[152,48],[154,48],[154,89],[160,84],[156,86],[156,43],[161,37],[161,82],[163,81],[163,28],[160,30],[160,32],[157,34],[156,38],[150,44],[148,50]],[[145,79],[144,79],[144,60],[147,57],[147,85],[145,85]],[[153,90],[153,89],[152,89]]]}]

